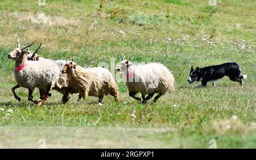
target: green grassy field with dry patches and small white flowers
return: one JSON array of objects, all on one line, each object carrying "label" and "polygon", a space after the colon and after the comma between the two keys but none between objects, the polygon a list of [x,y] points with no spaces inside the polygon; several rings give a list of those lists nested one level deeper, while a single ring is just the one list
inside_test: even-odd
[{"label": "green grassy field with dry patches and small white flowers", "polygon": [[[256,20],[254,0],[208,1],[50,1],[0,2],[0,148],[256,148]],[[51,90],[46,106],[27,101],[16,85],[16,47],[42,42],[39,54],[51,59],[75,57],[81,66],[121,62],[160,62],[175,76],[176,90],[142,105],[118,83],[119,101],[96,97],[63,105]],[[36,47],[34,45],[32,49]],[[195,88],[191,66],[237,62],[245,85],[225,77],[217,87]],[[140,95],[139,95],[140,96]],[[39,98],[38,89],[34,97]],[[126,104],[127,102],[127,104]]]}]

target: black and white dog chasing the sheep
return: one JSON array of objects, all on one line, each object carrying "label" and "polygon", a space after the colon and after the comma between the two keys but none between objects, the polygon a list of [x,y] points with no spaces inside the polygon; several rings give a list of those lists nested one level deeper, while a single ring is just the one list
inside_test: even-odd
[{"label": "black and white dog chasing the sheep", "polygon": [[243,84],[242,79],[246,79],[246,75],[241,75],[241,69],[236,62],[223,63],[216,66],[207,66],[204,68],[196,67],[196,70],[191,67],[188,82],[191,84],[194,81],[201,81],[201,85],[197,87],[206,87],[210,81],[215,87],[215,82],[224,76],[229,76],[232,81],[237,81],[240,85]]}]

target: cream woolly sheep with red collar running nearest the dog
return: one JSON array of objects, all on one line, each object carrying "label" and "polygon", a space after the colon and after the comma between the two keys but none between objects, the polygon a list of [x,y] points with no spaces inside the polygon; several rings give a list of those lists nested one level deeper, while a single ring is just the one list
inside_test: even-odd
[{"label": "cream woolly sheep with red collar running nearest the dog", "polygon": [[[135,97],[137,93],[141,92],[142,103],[144,104],[155,93],[158,93],[158,95],[154,98],[154,102],[167,91],[172,91],[175,88],[174,75],[163,64],[149,63],[133,65],[129,60],[123,60],[117,71],[122,71],[123,76],[126,77],[129,96],[141,101],[141,98]],[[148,96],[145,98],[147,94]]]}]

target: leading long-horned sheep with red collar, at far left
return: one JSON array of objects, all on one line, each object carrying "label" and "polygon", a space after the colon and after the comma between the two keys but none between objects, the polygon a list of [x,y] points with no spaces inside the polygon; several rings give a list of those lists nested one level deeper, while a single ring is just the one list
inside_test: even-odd
[{"label": "leading long-horned sheep with red collar, at far left", "polygon": [[[18,47],[11,51],[8,54],[8,58],[15,60],[15,71],[14,76],[17,85],[12,88],[14,97],[16,100],[20,101],[20,98],[16,95],[15,89],[19,87],[24,87],[28,89],[28,101],[34,102],[38,106],[42,106],[43,103],[48,98],[49,90],[52,89],[55,85],[61,88],[61,85],[58,83],[60,69],[56,63],[52,63],[51,60],[44,61],[31,61],[27,60],[27,51],[24,51],[30,45],[24,47],[20,46],[19,38],[16,36]],[[39,103],[33,100],[32,92],[35,88],[45,89],[43,100]]]}]

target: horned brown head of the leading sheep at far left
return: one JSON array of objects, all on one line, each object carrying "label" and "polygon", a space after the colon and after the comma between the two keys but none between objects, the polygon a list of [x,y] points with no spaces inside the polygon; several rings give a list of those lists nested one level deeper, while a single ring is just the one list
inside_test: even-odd
[{"label": "horned brown head of the leading sheep at far left", "polygon": [[17,36],[16,36],[16,38],[17,38],[18,47],[16,49],[14,49],[13,51],[11,51],[11,53],[8,54],[8,58],[13,59],[15,61],[23,59],[23,55],[25,55],[27,53],[27,51],[24,51],[24,49],[32,46],[35,43],[35,41],[34,41],[30,45],[21,47],[20,43],[19,43],[19,38]]}]

